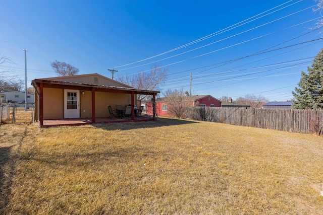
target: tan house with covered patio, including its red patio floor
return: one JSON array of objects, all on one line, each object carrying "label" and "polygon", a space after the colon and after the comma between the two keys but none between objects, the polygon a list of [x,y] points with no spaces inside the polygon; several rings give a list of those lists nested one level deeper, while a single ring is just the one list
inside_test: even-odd
[{"label": "tan house with covered patio, including its red patio floor", "polygon": [[[94,80],[98,78],[99,81],[119,86],[67,81],[93,77]],[[154,101],[159,91],[135,89],[98,74],[66,77],[64,81],[53,79],[57,78],[32,81],[36,92],[35,121],[38,121],[40,127],[155,120],[155,113],[136,117],[135,107],[140,102],[137,101],[136,95],[149,95]],[[107,107],[117,104],[131,105],[131,114],[128,118],[118,119],[110,116]],[[73,111],[73,115],[67,114],[70,111]]]}]

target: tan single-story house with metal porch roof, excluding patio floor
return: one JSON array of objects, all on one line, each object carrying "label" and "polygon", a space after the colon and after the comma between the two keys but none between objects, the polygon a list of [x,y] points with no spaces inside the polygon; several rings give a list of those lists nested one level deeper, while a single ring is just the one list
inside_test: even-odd
[{"label": "tan single-story house with metal porch roof, excluding patio floor", "polygon": [[35,79],[31,83],[36,92],[35,121],[40,127],[47,119],[91,118],[94,123],[96,117],[110,116],[109,105],[131,104],[133,120],[136,95],[151,95],[154,100],[159,93],[135,89],[96,73]]}]

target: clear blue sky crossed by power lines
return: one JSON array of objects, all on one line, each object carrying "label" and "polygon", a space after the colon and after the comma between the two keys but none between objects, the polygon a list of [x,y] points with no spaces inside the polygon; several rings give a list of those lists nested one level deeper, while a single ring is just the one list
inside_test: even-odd
[{"label": "clear blue sky crossed by power lines", "polygon": [[160,96],[167,89],[189,91],[192,73],[195,95],[284,101],[323,47],[312,0],[0,4],[0,52],[15,63],[0,69],[24,80],[26,49],[27,86],[57,76],[50,66],[55,60],[76,66],[79,75],[109,78],[108,68],[121,77],[157,63],[168,69]]}]

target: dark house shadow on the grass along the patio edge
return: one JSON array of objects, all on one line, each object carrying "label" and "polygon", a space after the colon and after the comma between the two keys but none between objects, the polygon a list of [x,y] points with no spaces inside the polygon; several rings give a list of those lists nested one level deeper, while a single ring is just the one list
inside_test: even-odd
[{"label": "dark house shadow on the grass along the patio edge", "polygon": [[172,118],[157,118],[156,121],[145,121],[145,122],[129,122],[129,123],[109,123],[109,124],[92,124],[92,126],[106,129],[106,130],[131,130],[138,128],[154,128],[154,127],[164,127],[173,125],[184,125],[199,123],[194,121],[188,121],[183,119],[172,119]]}]

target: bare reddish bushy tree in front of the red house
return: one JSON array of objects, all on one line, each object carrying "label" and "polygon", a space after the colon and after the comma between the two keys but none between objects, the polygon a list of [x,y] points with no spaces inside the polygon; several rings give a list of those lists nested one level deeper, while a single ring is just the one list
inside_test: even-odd
[{"label": "bare reddish bushy tree in front of the red house", "polygon": [[186,96],[183,89],[181,90],[167,90],[165,96],[168,101],[167,112],[170,116],[177,118],[185,118],[189,103],[189,96]]}]

